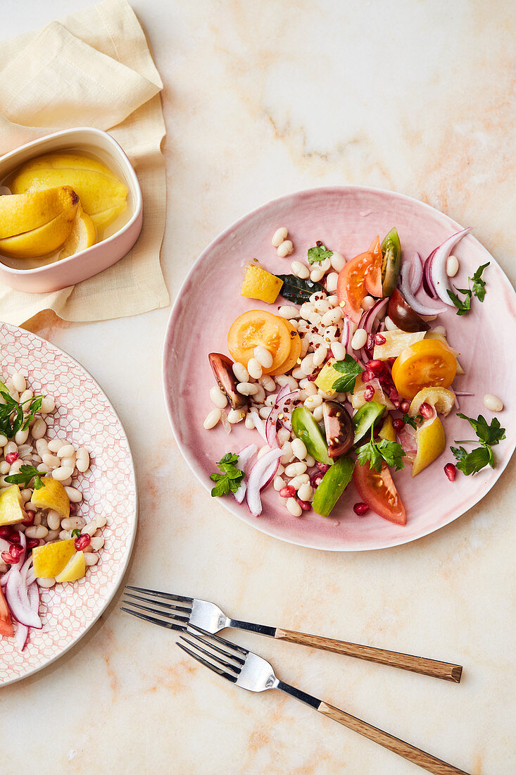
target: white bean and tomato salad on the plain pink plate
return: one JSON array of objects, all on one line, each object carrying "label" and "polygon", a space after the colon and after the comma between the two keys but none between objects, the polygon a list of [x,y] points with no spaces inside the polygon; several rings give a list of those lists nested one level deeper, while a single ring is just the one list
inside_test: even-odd
[{"label": "white bean and tomato salad on the plain pink plate", "polygon": [[[231,357],[209,354],[215,407],[204,427],[222,422],[230,432],[244,422],[262,441],[222,456],[211,477],[213,496],[246,501],[257,517],[260,491],[272,484],[294,517],[311,509],[328,517],[353,479],[362,498],[353,505],[357,515],[372,510],[406,524],[393,473],[408,465],[415,477],[442,454],[442,420],[459,408],[457,396],[468,395],[452,389],[456,374],[464,374],[460,353],[445,328],[430,322],[439,323],[450,307],[462,316],[483,302],[488,263],[468,288],[450,283],[459,270],[452,250],[470,230],[450,236],[424,261],[418,253],[403,256],[390,229],[350,260],[318,240],[306,263],[291,263],[291,274],[249,263],[241,294],[270,311],[249,308],[232,322]],[[294,250],[285,227],[272,244],[280,257]],[[491,394],[483,403],[490,412],[504,408]],[[468,476],[494,467],[493,447],[505,438],[496,417],[457,416],[476,440],[450,446],[450,482],[457,470]]]}]

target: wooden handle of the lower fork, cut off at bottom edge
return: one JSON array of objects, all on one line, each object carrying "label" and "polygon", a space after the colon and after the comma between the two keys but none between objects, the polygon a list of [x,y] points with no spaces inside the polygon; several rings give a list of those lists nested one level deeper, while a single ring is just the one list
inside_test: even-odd
[{"label": "wooden handle of the lower fork, cut off at bottom edge", "polygon": [[425,753],[421,749],[411,746],[409,742],[404,742],[394,735],[389,735],[388,732],[383,732],[377,727],[373,727],[367,722],[360,721],[359,718],[341,711],[339,708],[334,708],[333,705],[329,705],[322,702],[317,708],[319,713],[332,718],[335,722],[343,724],[349,729],[353,729],[354,732],[358,732],[359,735],[364,735],[374,742],[380,743],[380,746],[388,748],[390,751],[403,756],[404,759],[408,759],[409,762],[418,764],[424,770],[435,773],[435,775],[468,775],[464,770],[458,770],[452,764],[447,764],[440,759],[436,759],[430,753]]}]

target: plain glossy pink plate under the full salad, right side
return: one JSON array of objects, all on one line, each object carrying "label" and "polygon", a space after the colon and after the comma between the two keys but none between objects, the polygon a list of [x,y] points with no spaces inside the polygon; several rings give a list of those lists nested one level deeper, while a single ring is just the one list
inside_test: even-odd
[{"label": "plain glossy pink plate under the full salad, right side", "polygon": [[[278,258],[270,244],[278,226],[286,226],[294,242],[294,253],[288,259]],[[214,384],[208,353],[228,352],[226,336],[236,315],[247,309],[267,308],[240,296],[243,264],[257,258],[271,272],[288,273],[291,260],[306,260],[308,247],[317,239],[353,257],[366,250],[374,236],[384,236],[392,226],[400,234],[404,257],[411,257],[415,250],[426,257],[462,228],[432,207],[390,191],[318,188],[278,199],[245,215],[198,258],[170,315],[163,381],[177,443],[207,489],[212,487],[209,475],[216,470],[215,460],[251,441],[262,443],[258,432],[247,430],[243,423],[233,426],[229,436],[220,424],[210,431],[202,426],[212,408],[208,392]],[[301,518],[291,516],[272,487],[263,493],[264,508],[259,518],[253,517],[246,505],[238,505],[231,497],[223,498],[230,512],[270,536],[301,546],[335,551],[382,549],[413,541],[447,525],[493,487],[516,446],[516,412],[512,404],[516,360],[508,357],[516,341],[516,294],[497,262],[473,236],[466,236],[454,252],[461,264],[456,277],[459,288],[465,287],[468,275],[481,263],[490,261],[484,273],[487,294],[483,304],[475,300],[470,315],[462,318],[450,309],[439,324],[445,325],[450,343],[461,352],[460,361],[466,370],[453,387],[474,393],[473,397],[460,399],[461,410],[466,415],[483,413],[490,418],[483,395],[495,393],[504,401],[506,408],[499,418],[507,429],[507,439],[496,448],[496,468],[485,469],[474,477],[458,474],[452,484],[442,470],[452,460],[447,446],[439,460],[415,480],[411,480],[409,468],[396,474],[408,515],[404,527],[372,512],[356,516],[352,507],[360,499],[353,486],[348,487],[329,519],[313,512]],[[445,420],[445,432],[449,444],[453,439],[470,439],[472,429],[466,421],[450,415]],[[208,503],[210,496],[207,498]]]}]

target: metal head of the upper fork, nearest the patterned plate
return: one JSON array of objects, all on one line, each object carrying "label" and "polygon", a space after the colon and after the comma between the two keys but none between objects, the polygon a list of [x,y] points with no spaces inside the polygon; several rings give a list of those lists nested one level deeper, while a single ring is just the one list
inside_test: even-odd
[{"label": "metal head of the upper fork, nearest the patterned plate", "polygon": [[[152,621],[154,624],[161,624],[163,627],[167,627],[166,622],[170,622],[172,629],[182,629],[188,622],[191,622],[205,632],[215,633],[228,627],[229,622],[231,622],[218,608],[218,605],[206,600],[185,598],[180,594],[144,589],[143,587],[126,587],[124,594],[126,597],[122,602],[130,606],[130,610],[122,608],[122,611],[139,616],[146,621]],[[135,609],[146,613],[137,613]],[[154,618],[150,619],[149,614],[152,614]]]}]

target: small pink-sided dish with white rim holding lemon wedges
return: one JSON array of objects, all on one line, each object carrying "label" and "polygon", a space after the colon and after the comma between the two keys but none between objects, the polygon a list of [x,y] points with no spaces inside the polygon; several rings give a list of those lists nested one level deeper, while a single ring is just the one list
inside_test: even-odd
[{"label": "small pink-sided dish with white rim holding lemon wedges", "polygon": [[6,153],[0,158],[0,180],[34,157],[72,148],[79,153],[81,150],[89,151],[101,157],[122,178],[129,188],[128,206],[132,210],[131,216],[125,226],[112,236],[55,263],[36,269],[12,269],[0,260],[0,281],[17,291],[59,291],[60,288],[80,283],[124,257],[142,230],[143,200],[136,172],[119,143],[101,129],[89,126],[64,129]]}]

